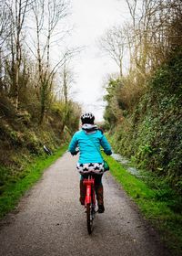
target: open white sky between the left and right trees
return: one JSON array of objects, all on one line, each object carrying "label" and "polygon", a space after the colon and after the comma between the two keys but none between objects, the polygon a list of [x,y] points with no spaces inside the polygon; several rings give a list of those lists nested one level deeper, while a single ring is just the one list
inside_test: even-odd
[{"label": "open white sky between the left and right trees", "polygon": [[[74,25],[69,45],[85,47],[74,64],[76,73],[73,98],[84,111],[93,112],[101,121],[104,112],[103,79],[106,74],[117,72],[112,59],[103,57],[96,45],[98,37],[107,28],[123,24],[128,19],[125,0],[72,0],[72,15],[68,23]],[[100,100],[100,101],[99,101]]]}]

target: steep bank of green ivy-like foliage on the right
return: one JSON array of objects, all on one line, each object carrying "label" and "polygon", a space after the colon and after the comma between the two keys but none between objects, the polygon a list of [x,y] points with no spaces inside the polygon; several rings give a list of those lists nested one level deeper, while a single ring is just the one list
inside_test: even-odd
[{"label": "steep bank of green ivy-like foliage on the right", "polygon": [[182,191],[182,54],[157,69],[135,111],[115,129],[114,146]]}]

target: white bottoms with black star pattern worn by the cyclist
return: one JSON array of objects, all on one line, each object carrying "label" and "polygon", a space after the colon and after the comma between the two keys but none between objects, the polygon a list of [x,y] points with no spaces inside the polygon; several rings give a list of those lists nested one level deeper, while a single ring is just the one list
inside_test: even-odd
[{"label": "white bottoms with black star pattern worn by the cyclist", "polygon": [[81,175],[88,174],[90,172],[97,175],[104,173],[104,163],[89,163],[89,164],[79,164],[77,163],[76,169]]}]

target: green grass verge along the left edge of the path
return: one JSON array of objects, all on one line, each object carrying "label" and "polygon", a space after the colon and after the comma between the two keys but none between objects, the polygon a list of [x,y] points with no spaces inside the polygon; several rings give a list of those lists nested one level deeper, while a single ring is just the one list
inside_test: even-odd
[{"label": "green grass verge along the left edge of the path", "polygon": [[53,164],[58,157],[66,152],[67,146],[57,150],[54,155],[35,157],[34,163],[28,165],[17,180],[5,184],[4,192],[0,196],[0,219],[13,210],[20,198],[42,176],[45,168]]}]

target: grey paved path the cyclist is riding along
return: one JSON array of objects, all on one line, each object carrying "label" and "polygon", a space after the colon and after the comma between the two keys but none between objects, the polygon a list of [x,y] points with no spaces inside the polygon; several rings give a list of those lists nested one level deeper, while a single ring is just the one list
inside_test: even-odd
[{"label": "grey paved path the cyclist is riding along", "polygon": [[1,256],[166,256],[155,232],[107,173],[104,214],[97,214],[91,236],[78,202],[76,157],[66,153],[1,223]]}]

